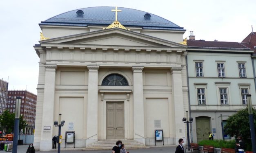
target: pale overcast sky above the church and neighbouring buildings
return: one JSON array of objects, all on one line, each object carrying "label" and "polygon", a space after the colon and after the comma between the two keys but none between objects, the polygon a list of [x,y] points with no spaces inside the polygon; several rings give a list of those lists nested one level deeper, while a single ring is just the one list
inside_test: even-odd
[{"label": "pale overcast sky above the church and neighbouring buildings", "polygon": [[[127,7],[163,17],[196,39],[241,42],[254,26],[256,0],[0,0],[0,78],[9,90],[37,94],[39,57],[38,23],[85,7]],[[109,10],[110,11],[110,10]]]}]

